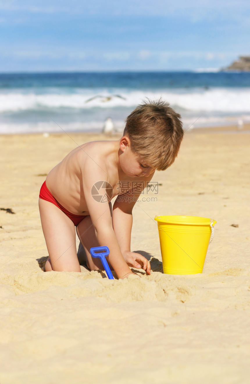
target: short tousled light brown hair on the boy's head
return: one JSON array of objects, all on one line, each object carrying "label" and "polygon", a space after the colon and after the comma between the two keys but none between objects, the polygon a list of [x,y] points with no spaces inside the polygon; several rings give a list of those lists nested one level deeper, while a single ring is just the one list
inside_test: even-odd
[{"label": "short tousled light brown hair on the boy's head", "polygon": [[183,139],[181,115],[161,98],[143,101],[127,117],[123,135],[149,167],[164,170],[173,164]]}]

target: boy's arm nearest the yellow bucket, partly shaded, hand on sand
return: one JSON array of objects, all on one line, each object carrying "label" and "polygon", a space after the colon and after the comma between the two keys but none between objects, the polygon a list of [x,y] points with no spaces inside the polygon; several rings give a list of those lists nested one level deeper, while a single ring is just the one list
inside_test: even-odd
[{"label": "boy's arm nearest the yellow bucket, partly shaded, hand on sand", "polygon": [[118,195],[113,204],[113,228],[118,240],[123,257],[128,265],[135,268],[143,268],[150,274],[150,262],[140,253],[130,251],[131,230],[132,230],[132,209],[137,202],[141,192],[152,179],[149,177],[141,178],[136,188],[132,188],[125,194]]}]

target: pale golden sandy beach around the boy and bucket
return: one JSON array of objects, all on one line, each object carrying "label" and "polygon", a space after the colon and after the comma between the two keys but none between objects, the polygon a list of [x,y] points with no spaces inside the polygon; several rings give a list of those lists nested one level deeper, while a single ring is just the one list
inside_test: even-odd
[{"label": "pale golden sandy beach around the boy and bucket", "polygon": [[[0,136],[0,383],[249,383],[250,126],[186,132],[156,172],[157,201],[133,210],[132,250],[151,259],[150,276],[44,272],[41,184],[99,139]],[[202,274],[163,274],[155,215],[217,220]]]}]

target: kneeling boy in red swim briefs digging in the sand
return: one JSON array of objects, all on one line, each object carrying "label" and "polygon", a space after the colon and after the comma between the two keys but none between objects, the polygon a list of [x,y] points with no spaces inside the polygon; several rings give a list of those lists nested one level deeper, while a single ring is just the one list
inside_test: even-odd
[{"label": "kneeling boy in red swim briefs digging in the sand", "polygon": [[39,195],[49,252],[45,270],[81,272],[76,226],[90,270],[103,269],[90,248],[107,245],[107,259],[118,278],[132,274],[129,266],[150,274],[148,260],[130,252],[132,209],[155,170],[174,162],[182,139],[180,115],[168,103],[143,102],[128,116],[120,140],[83,144],[54,167]]}]

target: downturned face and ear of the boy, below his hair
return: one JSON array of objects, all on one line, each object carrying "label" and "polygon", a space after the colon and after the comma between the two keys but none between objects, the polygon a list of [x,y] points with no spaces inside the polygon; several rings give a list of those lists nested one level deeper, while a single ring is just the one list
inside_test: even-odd
[{"label": "downturned face and ear of the boy, below his hair", "polygon": [[126,136],[120,140],[120,151],[119,164],[127,176],[148,177],[155,172],[155,168],[149,167],[140,155],[131,150],[130,140]]}]

